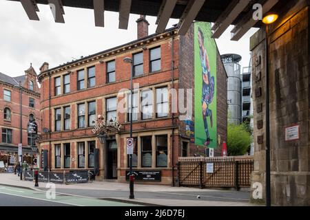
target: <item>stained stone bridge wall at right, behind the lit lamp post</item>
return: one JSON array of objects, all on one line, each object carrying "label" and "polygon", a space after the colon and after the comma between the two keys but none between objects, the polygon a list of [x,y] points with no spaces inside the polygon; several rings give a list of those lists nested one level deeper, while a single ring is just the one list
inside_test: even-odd
[{"label": "stained stone bridge wall at right, behind the lit lamp post", "polygon": [[[306,1],[289,1],[280,19],[269,29],[271,203],[310,205],[309,144],[309,7]],[[265,200],[265,32],[251,37],[254,96],[254,173],[252,184],[263,186]],[[261,62],[260,62],[261,61]],[[261,80],[256,76],[261,75]],[[262,112],[258,106],[262,104]],[[263,128],[258,129],[258,121]],[[300,140],[285,142],[285,128],[298,124]],[[258,144],[258,136],[263,143]],[[252,201],[254,200],[252,198]]]}]

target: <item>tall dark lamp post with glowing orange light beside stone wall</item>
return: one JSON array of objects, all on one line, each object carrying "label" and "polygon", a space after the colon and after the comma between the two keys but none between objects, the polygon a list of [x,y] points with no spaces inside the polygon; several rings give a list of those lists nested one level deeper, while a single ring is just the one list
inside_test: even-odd
[{"label": "tall dark lamp post with glowing orange light beside stone wall", "polygon": [[278,14],[266,14],[262,22],[266,26],[265,37],[265,86],[266,86],[266,206],[271,206],[271,182],[270,182],[270,116],[269,116],[269,27],[268,25],[278,19]]}]

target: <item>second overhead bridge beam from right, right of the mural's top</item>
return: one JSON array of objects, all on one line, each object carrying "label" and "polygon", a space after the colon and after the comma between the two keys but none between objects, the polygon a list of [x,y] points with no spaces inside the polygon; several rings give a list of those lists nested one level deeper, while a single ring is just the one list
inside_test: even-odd
[{"label": "second overhead bridge beam from right, right of the mural's top", "polygon": [[212,30],[214,30],[213,38],[218,39],[227,30],[229,25],[238,17],[238,15],[247,7],[250,0],[234,0],[228,5],[226,10],[214,23]]}]

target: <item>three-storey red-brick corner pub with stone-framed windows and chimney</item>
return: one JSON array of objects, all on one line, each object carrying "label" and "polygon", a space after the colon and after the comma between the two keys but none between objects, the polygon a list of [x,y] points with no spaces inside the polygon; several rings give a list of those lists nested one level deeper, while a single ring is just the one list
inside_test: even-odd
[{"label": "three-storey red-brick corner pub with stone-framed windows and chimney", "polygon": [[[98,168],[97,179],[125,181],[130,117],[118,107],[123,100],[124,109],[130,106],[129,96],[119,93],[120,89],[130,89],[130,64],[123,61],[126,57],[133,60],[134,84],[138,84],[133,96],[134,170],[160,170],[161,184],[172,184],[178,157],[204,152],[190,142],[179,114],[172,113],[170,92],[194,87],[193,28],[185,36],[178,36],[177,28],[148,36],[145,17],[137,23],[136,41],[52,69],[48,63],[42,65],[38,78],[45,133],[40,145],[48,150],[50,170]],[[219,54],[217,64],[218,133],[225,141],[227,75]],[[136,110],[139,108],[142,111]],[[98,116],[104,120],[97,120]],[[194,119],[194,111],[190,116]],[[96,131],[101,122],[121,124],[120,128],[103,126],[107,135],[103,144]]]}]

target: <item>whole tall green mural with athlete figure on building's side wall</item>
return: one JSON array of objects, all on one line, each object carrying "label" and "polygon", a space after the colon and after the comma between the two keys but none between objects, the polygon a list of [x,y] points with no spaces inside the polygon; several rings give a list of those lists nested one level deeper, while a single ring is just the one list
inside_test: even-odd
[{"label": "whole tall green mural with athlete figure on building's side wall", "polygon": [[210,23],[194,23],[195,144],[216,148],[217,47],[211,36]]}]

